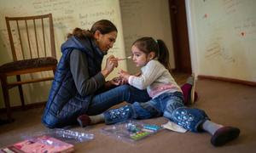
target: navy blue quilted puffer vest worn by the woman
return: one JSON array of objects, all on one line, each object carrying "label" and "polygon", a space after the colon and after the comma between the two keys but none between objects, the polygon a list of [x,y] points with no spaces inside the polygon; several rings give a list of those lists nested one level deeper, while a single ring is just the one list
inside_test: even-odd
[{"label": "navy blue quilted puffer vest worn by the woman", "polygon": [[46,127],[64,127],[75,123],[76,118],[87,111],[93,96],[81,96],[75,86],[69,67],[69,57],[73,49],[87,55],[90,77],[101,71],[103,54],[89,38],[81,41],[76,37],[70,37],[61,45],[62,56],[55,71],[55,79],[42,118]]}]

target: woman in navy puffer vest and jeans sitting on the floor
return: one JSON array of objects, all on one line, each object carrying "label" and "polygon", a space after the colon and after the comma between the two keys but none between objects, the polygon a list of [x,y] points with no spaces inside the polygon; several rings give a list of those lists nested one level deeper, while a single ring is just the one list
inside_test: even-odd
[{"label": "woman in navy puffer vest and jeans sitting on the floor", "polygon": [[76,124],[82,114],[97,115],[123,101],[150,99],[145,90],[119,86],[123,82],[116,78],[105,81],[118,66],[118,59],[110,55],[102,70],[103,56],[113,47],[117,33],[111,21],[99,20],[90,31],[75,28],[67,36],[61,45],[62,56],[44,110],[42,122],[46,127]]}]

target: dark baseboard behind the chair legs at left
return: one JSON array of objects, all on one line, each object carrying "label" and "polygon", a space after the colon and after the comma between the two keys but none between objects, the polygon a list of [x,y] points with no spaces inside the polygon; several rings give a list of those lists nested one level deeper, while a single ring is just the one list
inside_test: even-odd
[{"label": "dark baseboard behind the chair legs at left", "polygon": [[[24,110],[29,110],[29,109],[34,109],[34,108],[42,108],[44,107],[46,104],[46,102],[39,102],[39,103],[34,103],[34,104],[28,104],[25,105],[24,108],[21,105],[18,106],[12,106],[11,110],[12,111],[24,111]],[[0,109],[0,113],[6,113],[6,109],[5,108],[1,108]]]}]

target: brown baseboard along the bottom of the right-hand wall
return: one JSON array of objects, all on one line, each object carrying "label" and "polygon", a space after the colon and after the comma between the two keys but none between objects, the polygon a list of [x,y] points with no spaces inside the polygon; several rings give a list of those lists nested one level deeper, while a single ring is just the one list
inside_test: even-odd
[{"label": "brown baseboard along the bottom of the right-hand wall", "polygon": [[224,82],[235,82],[240,83],[248,86],[256,86],[256,82],[249,82],[245,80],[239,80],[239,79],[233,79],[233,78],[227,78],[227,77],[213,77],[213,76],[204,76],[204,75],[198,75],[198,79],[212,79],[212,80],[219,80]]}]

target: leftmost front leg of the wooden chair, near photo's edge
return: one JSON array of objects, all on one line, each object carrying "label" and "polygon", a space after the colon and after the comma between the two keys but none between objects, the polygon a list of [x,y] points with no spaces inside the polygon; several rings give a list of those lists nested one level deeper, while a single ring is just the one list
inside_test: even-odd
[{"label": "leftmost front leg of the wooden chair, near photo's edge", "polygon": [[2,83],[3,99],[4,99],[7,117],[8,117],[9,122],[13,122],[14,120],[12,119],[11,107],[9,104],[9,91],[8,91],[8,87],[7,87],[7,77],[1,76],[1,83]]}]

